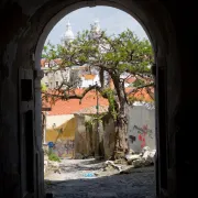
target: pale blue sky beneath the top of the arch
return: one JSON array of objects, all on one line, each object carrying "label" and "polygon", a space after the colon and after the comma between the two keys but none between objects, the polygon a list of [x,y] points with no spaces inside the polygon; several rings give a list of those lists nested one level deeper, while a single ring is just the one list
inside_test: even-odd
[{"label": "pale blue sky beneath the top of the arch", "polygon": [[61,37],[65,33],[66,23],[69,20],[73,32],[76,35],[78,31],[90,29],[95,20],[100,21],[100,28],[108,34],[119,34],[127,29],[132,30],[140,38],[147,38],[146,33],[139,22],[130,14],[110,7],[82,8],[70,12],[64,16],[51,31],[46,42],[61,43]]}]

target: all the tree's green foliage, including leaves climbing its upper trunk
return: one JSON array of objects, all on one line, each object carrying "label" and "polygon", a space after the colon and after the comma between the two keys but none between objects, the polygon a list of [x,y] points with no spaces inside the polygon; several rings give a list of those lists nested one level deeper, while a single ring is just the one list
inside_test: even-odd
[{"label": "all the tree's green foliage, including leaves climbing its upper trunk", "polygon": [[[108,99],[110,116],[113,120],[117,120],[120,107],[123,107],[124,102],[133,103],[138,100],[134,97],[127,97],[121,75],[128,73],[132,77],[136,77],[133,87],[139,88],[140,86],[143,87],[151,84],[151,80],[146,82],[146,80],[141,78],[144,78],[144,74],[151,74],[150,66],[154,59],[152,46],[147,40],[140,40],[130,30],[117,36],[108,36],[106,32],[102,32],[97,38],[92,38],[91,35],[92,30],[85,30],[78,32],[73,42],[65,42],[65,45],[54,46],[48,42],[43,50],[43,57],[47,59],[62,58],[63,63],[59,65],[59,69],[74,65],[82,66],[85,64],[98,67],[101,77],[101,87],[98,90],[102,97]],[[108,86],[103,85],[103,73],[109,74],[114,84],[114,89],[107,88]],[[138,76],[141,77],[138,78]],[[76,79],[76,76],[74,78]],[[69,90],[70,88],[75,87],[70,86]],[[120,89],[123,90],[120,91]],[[62,99],[69,99],[66,91],[63,94]],[[80,98],[78,97],[78,99]],[[139,98],[139,100],[142,99]]]}]

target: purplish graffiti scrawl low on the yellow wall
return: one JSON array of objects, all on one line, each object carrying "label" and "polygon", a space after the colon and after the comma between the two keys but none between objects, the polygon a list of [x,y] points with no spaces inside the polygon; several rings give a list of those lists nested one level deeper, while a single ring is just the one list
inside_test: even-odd
[{"label": "purplish graffiti scrawl low on the yellow wall", "polygon": [[70,157],[74,155],[74,140],[59,140],[53,150],[59,157]]}]

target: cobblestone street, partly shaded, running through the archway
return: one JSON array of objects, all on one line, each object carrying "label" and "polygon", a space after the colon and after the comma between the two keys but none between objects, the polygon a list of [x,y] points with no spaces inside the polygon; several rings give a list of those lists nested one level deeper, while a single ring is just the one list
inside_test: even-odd
[{"label": "cobblestone street, partly shaded, running through the archway", "polygon": [[46,193],[53,193],[54,198],[155,197],[154,166],[132,168],[128,174],[102,172],[102,162],[95,160],[63,160],[61,174],[45,175]]}]

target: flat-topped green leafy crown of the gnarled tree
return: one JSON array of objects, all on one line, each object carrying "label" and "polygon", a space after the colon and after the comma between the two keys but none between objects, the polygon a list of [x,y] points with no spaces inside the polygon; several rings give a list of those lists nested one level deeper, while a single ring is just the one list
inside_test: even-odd
[{"label": "flat-topped green leafy crown of the gnarled tree", "polygon": [[[72,43],[54,46],[48,42],[43,50],[47,59],[62,58],[63,67],[88,64],[102,66],[105,70],[117,69],[120,75],[130,73],[150,73],[153,63],[152,46],[147,40],[139,40],[130,30],[118,36],[108,36],[102,32],[97,40],[90,38],[91,31],[78,32]],[[101,48],[106,53],[101,53]]]}]

